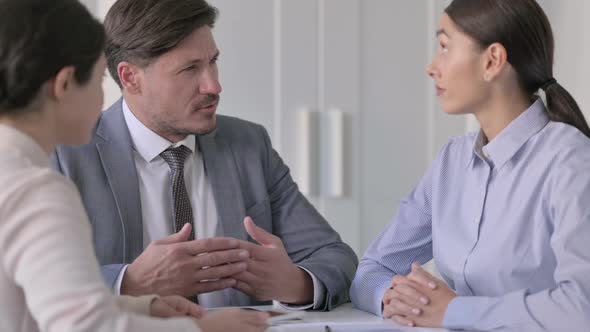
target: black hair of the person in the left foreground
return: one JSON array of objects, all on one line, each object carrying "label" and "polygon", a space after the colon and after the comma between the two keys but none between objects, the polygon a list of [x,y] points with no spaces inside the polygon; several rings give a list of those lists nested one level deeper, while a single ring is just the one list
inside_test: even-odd
[{"label": "black hair of the person in the left foreground", "polygon": [[25,109],[64,67],[86,84],[104,43],[77,0],[0,0],[0,115]]}]

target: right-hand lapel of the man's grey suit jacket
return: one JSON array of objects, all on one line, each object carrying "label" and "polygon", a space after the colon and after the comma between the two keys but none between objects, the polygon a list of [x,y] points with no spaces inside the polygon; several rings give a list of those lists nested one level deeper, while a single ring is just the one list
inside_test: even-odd
[{"label": "right-hand lapel of the man's grey suit jacket", "polygon": [[198,140],[219,216],[217,234],[247,240],[243,224],[246,209],[231,147],[216,131],[198,136]]}]

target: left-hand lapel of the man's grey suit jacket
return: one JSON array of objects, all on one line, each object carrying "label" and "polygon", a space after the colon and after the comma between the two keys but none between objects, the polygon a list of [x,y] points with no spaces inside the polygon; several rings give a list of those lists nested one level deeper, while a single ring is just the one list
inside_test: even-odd
[{"label": "left-hand lapel of the man's grey suit jacket", "polygon": [[97,135],[104,140],[96,147],[117,203],[125,233],[125,261],[129,263],[143,251],[143,226],[133,147],[121,100],[103,114]]}]

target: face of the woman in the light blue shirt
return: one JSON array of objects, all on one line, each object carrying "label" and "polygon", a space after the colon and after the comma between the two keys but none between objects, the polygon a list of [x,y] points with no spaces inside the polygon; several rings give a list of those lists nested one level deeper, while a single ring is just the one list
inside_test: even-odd
[{"label": "face of the woman in the light blue shirt", "polygon": [[443,14],[436,35],[438,48],[426,72],[436,83],[442,110],[449,114],[476,112],[489,98],[484,51],[447,14]]}]

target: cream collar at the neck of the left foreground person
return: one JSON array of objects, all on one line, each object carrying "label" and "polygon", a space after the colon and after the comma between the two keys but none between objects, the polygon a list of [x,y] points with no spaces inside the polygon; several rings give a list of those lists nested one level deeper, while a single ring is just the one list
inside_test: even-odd
[{"label": "cream collar at the neck of the left foreground person", "polygon": [[0,124],[0,145],[15,148],[34,166],[50,167],[49,154],[31,136],[4,124]]}]

